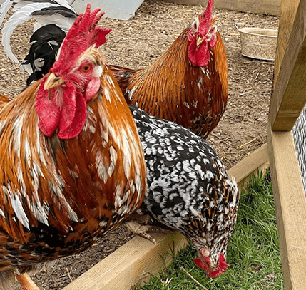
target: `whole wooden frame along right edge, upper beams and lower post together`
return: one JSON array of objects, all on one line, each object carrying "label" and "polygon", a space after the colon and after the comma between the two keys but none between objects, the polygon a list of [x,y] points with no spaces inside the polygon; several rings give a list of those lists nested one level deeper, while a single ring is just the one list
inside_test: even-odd
[{"label": "whole wooden frame along right edge, upper beams and lower post together", "polygon": [[306,103],[305,26],[306,0],[282,0],[267,131],[286,290],[306,285],[306,197],[290,132]]}]

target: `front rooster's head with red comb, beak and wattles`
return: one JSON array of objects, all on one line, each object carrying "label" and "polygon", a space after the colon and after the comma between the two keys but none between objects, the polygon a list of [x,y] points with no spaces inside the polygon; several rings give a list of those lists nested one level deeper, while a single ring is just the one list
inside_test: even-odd
[{"label": "front rooster's head with red comb, beak and wattles", "polygon": [[[103,16],[96,9],[80,15],[67,33],[58,51],[58,60],[46,76],[36,99],[39,129],[51,137],[58,128],[58,138],[71,139],[86,123],[86,102],[98,93],[104,58],[95,48],[106,43],[111,29],[95,27]],[[83,31],[83,33],[81,33]],[[78,39],[80,38],[81,39]]]}]

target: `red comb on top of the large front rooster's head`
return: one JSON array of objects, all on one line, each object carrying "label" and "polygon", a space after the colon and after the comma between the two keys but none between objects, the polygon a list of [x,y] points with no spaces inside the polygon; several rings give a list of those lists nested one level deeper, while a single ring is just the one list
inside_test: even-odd
[{"label": "red comb on top of the large front rooster's head", "polygon": [[96,44],[96,48],[106,43],[106,35],[111,29],[103,29],[96,27],[98,21],[103,16],[104,12],[99,13],[100,9],[95,9],[91,12],[91,5],[87,4],[86,12],[80,14],[76,21],[73,22],[71,29],[69,29],[66,38],[63,40],[61,53],[58,61],[54,63],[57,67],[58,63],[74,63],[76,58],[80,56],[87,48]]}]

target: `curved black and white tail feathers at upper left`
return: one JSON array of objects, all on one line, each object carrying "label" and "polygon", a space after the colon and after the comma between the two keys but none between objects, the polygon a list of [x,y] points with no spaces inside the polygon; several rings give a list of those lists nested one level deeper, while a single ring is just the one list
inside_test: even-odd
[{"label": "curved black and white tail feathers at upper left", "polygon": [[14,29],[29,19],[34,18],[37,21],[34,34],[30,38],[32,44],[29,54],[21,63],[21,71],[26,70],[30,74],[27,79],[29,86],[31,81],[36,81],[49,72],[66,32],[78,14],[66,0],[6,0],[0,8],[0,25],[11,6],[14,14],[2,29],[2,45],[12,61],[19,62],[11,51],[10,38]]}]

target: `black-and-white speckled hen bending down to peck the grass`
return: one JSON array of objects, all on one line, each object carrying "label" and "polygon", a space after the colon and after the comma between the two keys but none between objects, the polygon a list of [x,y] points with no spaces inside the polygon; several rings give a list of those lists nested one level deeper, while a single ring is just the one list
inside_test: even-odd
[{"label": "black-and-white speckled hen bending down to peck the grass", "polygon": [[134,106],[130,110],[147,166],[148,190],[141,207],[153,220],[190,239],[200,252],[195,263],[209,276],[222,274],[238,214],[235,179],[228,178],[203,138]]}]

